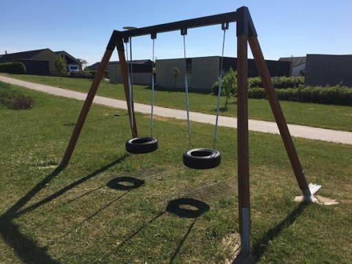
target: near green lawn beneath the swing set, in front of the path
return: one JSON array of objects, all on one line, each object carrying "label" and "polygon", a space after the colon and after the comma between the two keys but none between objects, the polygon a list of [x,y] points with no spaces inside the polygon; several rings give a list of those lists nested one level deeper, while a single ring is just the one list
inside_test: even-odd
[{"label": "near green lawn beneath the swing set, in front of the path", "polygon": [[[182,164],[185,121],[157,118],[159,149],[128,155],[126,111],[93,105],[71,163],[61,170],[83,102],[17,89],[36,103],[30,110],[0,105],[0,263],[232,259],[238,243],[236,129],[219,128],[219,167],[192,170]],[[136,118],[140,135],[148,135],[148,115]],[[211,147],[213,128],[192,122],[193,146]],[[281,137],[250,133],[252,250],[258,263],[352,263],[352,146],[294,142],[309,182],[340,203],[294,202],[300,190]],[[123,179],[142,186],[118,188]],[[179,197],[199,199],[210,209],[197,218],[178,217],[166,206]]]}]

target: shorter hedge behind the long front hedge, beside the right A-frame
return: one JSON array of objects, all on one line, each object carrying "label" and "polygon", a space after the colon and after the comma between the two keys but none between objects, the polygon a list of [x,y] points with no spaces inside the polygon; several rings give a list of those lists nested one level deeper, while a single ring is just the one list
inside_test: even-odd
[{"label": "shorter hedge behind the long front hedge, beside the right A-frame", "polygon": [[[305,77],[274,77],[272,82],[276,89],[297,88],[305,84]],[[260,77],[248,78],[248,88],[263,87]]]}]

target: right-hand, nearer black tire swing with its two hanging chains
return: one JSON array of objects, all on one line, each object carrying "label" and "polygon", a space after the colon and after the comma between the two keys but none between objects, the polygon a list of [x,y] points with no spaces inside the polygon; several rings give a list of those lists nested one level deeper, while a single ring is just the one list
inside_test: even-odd
[{"label": "right-hand, nearer black tire swing with its two hanging chains", "polygon": [[[214,146],[217,141],[217,129],[220,109],[220,96],[222,87],[222,68],[223,68],[223,50],[225,47],[225,32],[228,30],[228,23],[222,23],[223,30],[223,47],[221,53],[220,74],[219,74],[219,89],[217,94],[217,118],[215,121],[214,131]],[[184,61],[185,61],[185,90],[186,90],[186,107],[187,107],[187,124],[188,124],[188,146],[190,146],[190,115],[189,115],[189,99],[188,99],[188,83],[187,83],[187,64],[186,64],[186,38],[187,29],[181,30],[181,35],[184,36]],[[221,154],[215,148],[192,148],[183,155],[184,165],[188,168],[208,169],[215,168],[221,163]]]}]

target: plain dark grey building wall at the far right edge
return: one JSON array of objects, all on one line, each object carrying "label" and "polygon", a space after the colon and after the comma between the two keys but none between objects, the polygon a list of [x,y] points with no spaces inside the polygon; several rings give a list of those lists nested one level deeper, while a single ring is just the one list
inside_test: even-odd
[{"label": "plain dark grey building wall at the far right edge", "polygon": [[352,86],[352,55],[307,54],[305,85]]}]

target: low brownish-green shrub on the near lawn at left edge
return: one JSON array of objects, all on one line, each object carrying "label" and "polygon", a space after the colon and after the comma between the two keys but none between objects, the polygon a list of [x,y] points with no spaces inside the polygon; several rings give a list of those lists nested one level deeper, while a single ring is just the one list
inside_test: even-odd
[{"label": "low brownish-green shrub on the near lawn at left edge", "polygon": [[0,104],[10,109],[29,109],[34,105],[34,98],[25,96],[8,84],[0,83]]}]

